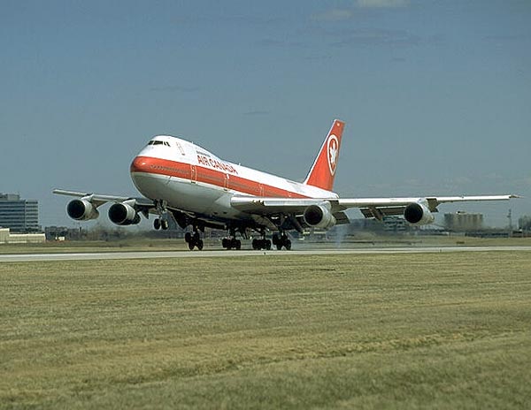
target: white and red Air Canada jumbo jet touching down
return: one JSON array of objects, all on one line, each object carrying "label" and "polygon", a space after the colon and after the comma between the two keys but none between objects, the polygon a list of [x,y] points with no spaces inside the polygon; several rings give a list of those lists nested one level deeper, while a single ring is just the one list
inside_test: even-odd
[{"label": "white and red Air Canada jumbo jet touching down", "polygon": [[[153,227],[168,229],[173,217],[186,232],[189,249],[204,247],[205,228],[225,230],[226,249],[240,249],[239,233],[247,239],[258,232],[252,248],[291,249],[287,232],[305,228],[328,229],[349,224],[344,211],[358,208],[366,218],[404,216],[412,225],[431,224],[437,207],[446,202],[508,201],[518,195],[424,196],[404,198],[340,198],[332,189],[341,148],[344,122],[335,119],[304,182],[281,178],[230,163],[198,145],[169,135],[153,137],[130,165],[133,183],[143,197],[91,194],[54,189],[54,194],[77,197],[67,204],[68,216],[78,221],[96,219],[98,208],[108,211],[114,224],[138,224],[141,215],[156,216]],[[272,240],[267,233],[273,232]]]}]

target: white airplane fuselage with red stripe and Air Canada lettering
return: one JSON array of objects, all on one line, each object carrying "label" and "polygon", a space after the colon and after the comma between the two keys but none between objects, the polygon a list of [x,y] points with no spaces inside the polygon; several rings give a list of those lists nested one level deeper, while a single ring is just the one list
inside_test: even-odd
[{"label": "white airplane fuselage with red stripe and Air Canada lettering", "polygon": [[338,195],[219,159],[204,148],[160,135],[131,163],[131,178],[147,198],[212,219],[248,219],[231,207],[233,195],[337,198]]}]

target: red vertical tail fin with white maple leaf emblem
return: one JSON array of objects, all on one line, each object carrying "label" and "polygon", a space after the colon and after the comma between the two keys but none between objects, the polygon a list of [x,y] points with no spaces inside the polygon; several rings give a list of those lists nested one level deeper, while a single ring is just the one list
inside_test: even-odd
[{"label": "red vertical tail fin with white maple leaf emblem", "polygon": [[344,126],[345,123],[339,119],[334,120],[332,128],[327,133],[327,139],[323,142],[304,184],[332,191]]}]

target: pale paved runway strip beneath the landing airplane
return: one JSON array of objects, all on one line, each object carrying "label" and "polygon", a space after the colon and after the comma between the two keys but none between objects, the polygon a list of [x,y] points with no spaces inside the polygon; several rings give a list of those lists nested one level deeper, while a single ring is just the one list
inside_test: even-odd
[{"label": "pale paved runway strip beneath the landing airplane", "polygon": [[226,258],[226,257],[275,257],[289,255],[326,254],[434,254],[451,252],[519,252],[531,251],[531,247],[376,247],[356,249],[315,249],[291,251],[208,250],[208,251],[144,251],[144,252],[97,252],[68,254],[0,254],[0,262],[47,262],[47,261],[102,261],[119,259],[161,258]]}]

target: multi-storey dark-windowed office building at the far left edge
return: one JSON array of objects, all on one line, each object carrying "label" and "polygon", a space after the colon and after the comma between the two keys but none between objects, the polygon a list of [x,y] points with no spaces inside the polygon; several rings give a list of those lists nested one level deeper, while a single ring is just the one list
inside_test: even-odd
[{"label": "multi-storey dark-windowed office building at the far left edge", "polygon": [[39,202],[21,200],[19,194],[0,193],[0,226],[12,232],[38,232]]}]

